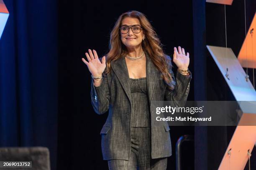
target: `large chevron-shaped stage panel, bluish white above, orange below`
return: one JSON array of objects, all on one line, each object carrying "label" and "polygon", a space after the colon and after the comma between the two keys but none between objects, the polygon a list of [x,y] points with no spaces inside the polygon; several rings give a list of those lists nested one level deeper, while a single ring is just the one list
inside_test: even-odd
[{"label": "large chevron-shaped stage panel, bluish white above, orange below", "polygon": [[250,80],[246,81],[246,73],[231,48],[206,47],[243,112],[218,170],[243,170],[248,161],[248,150],[251,153],[256,143],[256,126],[253,126],[256,122],[256,91]]}]

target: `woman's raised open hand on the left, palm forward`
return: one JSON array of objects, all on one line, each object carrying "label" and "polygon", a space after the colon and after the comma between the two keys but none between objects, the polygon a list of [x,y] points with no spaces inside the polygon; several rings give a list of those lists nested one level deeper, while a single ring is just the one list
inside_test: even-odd
[{"label": "woman's raised open hand on the left, palm forward", "polygon": [[89,62],[87,62],[84,58],[82,58],[82,61],[87,65],[92,76],[100,77],[106,67],[106,57],[105,56],[102,57],[102,63],[101,63],[97,55],[97,52],[95,50],[89,49],[88,51],[89,51],[89,54],[85,52],[85,55]]}]

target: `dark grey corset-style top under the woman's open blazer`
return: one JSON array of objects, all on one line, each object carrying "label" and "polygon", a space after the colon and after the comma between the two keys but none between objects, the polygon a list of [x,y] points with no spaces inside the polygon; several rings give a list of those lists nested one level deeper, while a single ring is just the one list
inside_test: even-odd
[{"label": "dark grey corset-style top under the woman's open blazer", "polygon": [[131,127],[150,127],[146,77],[130,78],[131,82]]}]

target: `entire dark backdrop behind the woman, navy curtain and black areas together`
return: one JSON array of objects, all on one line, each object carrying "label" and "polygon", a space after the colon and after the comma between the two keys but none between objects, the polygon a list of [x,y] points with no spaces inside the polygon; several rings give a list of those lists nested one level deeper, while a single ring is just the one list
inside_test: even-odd
[{"label": "entire dark backdrop behind the woman, navy curtain and black areas together", "polygon": [[[248,28],[256,1],[246,3]],[[100,130],[108,113],[97,115],[92,109],[90,72],[81,58],[89,48],[99,56],[108,52],[110,31],[118,16],[128,10],[147,15],[167,54],[172,56],[178,45],[190,53],[188,100],[234,100],[205,47],[225,45],[223,5],[205,0],[5,0],[5,4],[10,16],[0,40],[0,147],[46,146],[53,170],[108,167],[100,144]],[[227,7],[227,36],[228,47],[236,55],[244,37],[243,17],[242,0],[234,0],[233,6]],[[194,135],[195,128],[195,167],[216,169],[234,130],[170,128],[171,170],[175,169],[179,136]],[[187,154],[183,164],[191,170],[193,148]],[[255,167],[255,153],[251,160]]]}]

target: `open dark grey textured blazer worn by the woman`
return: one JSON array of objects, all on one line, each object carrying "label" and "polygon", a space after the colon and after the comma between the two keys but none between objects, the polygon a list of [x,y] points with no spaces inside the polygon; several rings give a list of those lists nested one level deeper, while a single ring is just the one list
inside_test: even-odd
[{"label": "open dark grey textured blazer worn by the woman", "polygon": [[[100,58],[101,60],[102,58]],[[151,58],[146,54],[146,85],[148,103],[152,101],[171,101],[173,106],[182,106],[189,93],[191,76],[179,72],[174,79],[171,58],[166,55],[169,72],[172,75],[174,90],[167,89],[167,84],[161,79],[161,72],[156,68]],[[108,111],[108,118],[100,131],[101,147],[104,160],[129,160],[131,154],[131,93],[129,74],[125,57],[111,61],[111,71],[103,74],[100,86],[93,85],[91,79],[91,101],[95,112],[99,115]],[[191,72],[190,72],[191,75]],[[172,155],[169,125],[161,121],[156,125],[151,112],[151,158],[164,158]]]}]

